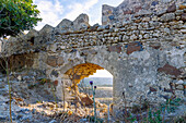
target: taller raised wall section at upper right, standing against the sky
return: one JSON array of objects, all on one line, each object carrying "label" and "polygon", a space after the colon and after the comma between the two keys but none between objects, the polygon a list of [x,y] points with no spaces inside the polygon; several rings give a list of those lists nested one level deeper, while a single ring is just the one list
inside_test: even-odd
[{"label": "taller raised wall section at upper right, standing against the sky", "polygon": [[161,16],[182,8],[184,0],[124,0],[118,7],[102,7],[102,25],[131,22],[140,16]]}]

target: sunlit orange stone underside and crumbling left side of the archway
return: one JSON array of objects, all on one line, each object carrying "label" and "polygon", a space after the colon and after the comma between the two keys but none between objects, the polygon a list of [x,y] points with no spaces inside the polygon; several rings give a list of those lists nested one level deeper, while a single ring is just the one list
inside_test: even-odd
[{"label": "sunlit orange stone underside and crumbling left side of the archway", "polygon": [[[79,91],[78,84],[80,84],[81,79],[83,79],[84,77],[89,77],[90,75],[93,75],[94,73],[96,73],[96,70],[104,70],[104,67],[97,64],[93,64],[93,63],[82,63],[82,64],[78,64],[69,69],[63,74],[65,77],[61,79],[61,84],[65,84],[65,85],[59,85],[58,87],[59,89],[58,93],[62,94],[61,96],[63,98],[62,100],[65,99],[72,100],[77,96],[81,98],[88,96],[88,94]],[[63,91],[60,91],[61,87]],[[113,94],[113,87],[112,87],[112,94]],[[86,98],[86,100],[89,99]]]}]

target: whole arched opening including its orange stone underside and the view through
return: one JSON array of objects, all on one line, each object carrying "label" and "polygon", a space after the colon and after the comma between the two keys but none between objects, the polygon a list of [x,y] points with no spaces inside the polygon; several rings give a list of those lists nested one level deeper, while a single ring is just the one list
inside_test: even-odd
[{"label": "whole arched opening including its orange stone underside and the view through", "polygon": [[[106,104],[113,102],[113,75],[104,67],[93,63],[83,63],[73,66],[65,74],[71,81],[71,85],[68,87],[71,96],[80,98],[79,101],[90,104],[88,101],[92,100],[93,94],[90,81],[93,81],[96,86],[95,100]],[[82,98],[85,97],[86,99],[83,100]]]}]

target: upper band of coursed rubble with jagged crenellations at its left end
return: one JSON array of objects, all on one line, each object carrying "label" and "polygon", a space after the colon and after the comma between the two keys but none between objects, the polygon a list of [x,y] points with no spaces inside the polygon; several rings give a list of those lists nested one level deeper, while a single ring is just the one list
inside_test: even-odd
[{"label": "upper band of coursed rubble with jagged crenellations at its left end", "polygon": [[[172,5],[174,7],[175,4]],[[185,5],[179,4],[179,7],[175,8],[176,10],[171,12],[166,11],[158,15],[151,14],[148,16],[139,15],[131,21],[105,26],[97,24],[90,26],[89,22],[86,22],[89,21],[88,16],[83,14],[83,16],[77,17],[75,23],[63,20],[57,27],[46,25],[39,32],[31,30],[25,36],[11,38],[8,44],[4,42],[7,45],[2,50],[9,53],[39,50],[60,51],[92,46],[111,46],[118,42],[128,44],[131,41],[141,41],[146,42],[146,45],[172,41],[172,44],[179,46],[178,41],[185,40],[186,33],[184,8]]]}]

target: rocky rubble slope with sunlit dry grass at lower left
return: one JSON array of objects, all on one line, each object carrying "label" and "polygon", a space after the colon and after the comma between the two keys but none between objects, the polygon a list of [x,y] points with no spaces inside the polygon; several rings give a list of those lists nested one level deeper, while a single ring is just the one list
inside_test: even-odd
[{"label": "rocky rubble slope with sunlit dry grass at lower left", "polygon": [[[30,86],[26,82],[10,81],[11,83],[11,110],[15,123],[60,123],[80,122],[81,119],[93,115],[92,106],[77,102],[62,102],[44,85]],[[83,95],[83,94],[81,94]],[[84,96],[84,95],[83,95]],[[86,99],[86,98],[85,98]],[[86,99],[88,100],[88,99]],[[107,106],[96,101],[98,115],[107,116]],[[0,123],[10,122],[9,85],[4,76],[0,78]],[[83,121],[82,121],[83,122]]]}]

